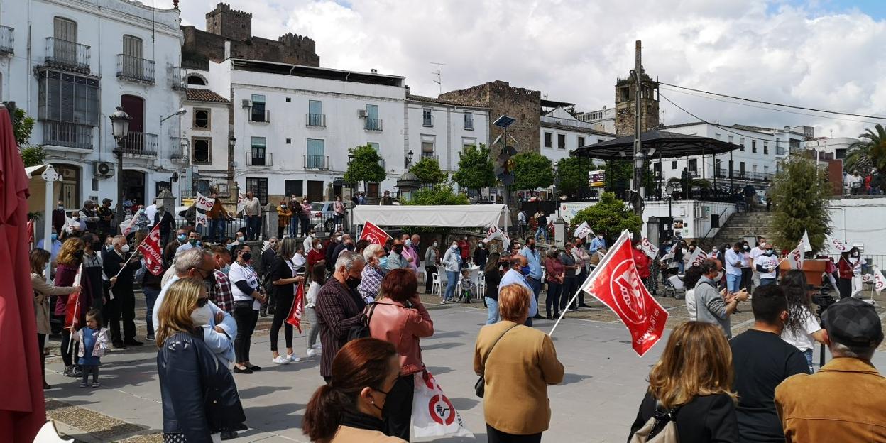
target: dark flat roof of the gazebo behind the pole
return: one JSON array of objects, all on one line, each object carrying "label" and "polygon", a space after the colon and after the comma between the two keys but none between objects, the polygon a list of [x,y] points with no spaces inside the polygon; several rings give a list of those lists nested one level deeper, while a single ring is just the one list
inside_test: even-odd
[{"label": "dark flat roof of the gazebo behind the pole", "polygon": [[[715,140],[710,137],[688,136],[676,132],[652,129],[641,134],[643,152],[649,158],[672,159],[688,155],[722,154],[739,146]],[[649,153],[654,149],[655,152]],[[588,144],[570,152],[571,156],[590,159],[618,160],[632,159],[633,136],[624,136],[597,144]]]}]

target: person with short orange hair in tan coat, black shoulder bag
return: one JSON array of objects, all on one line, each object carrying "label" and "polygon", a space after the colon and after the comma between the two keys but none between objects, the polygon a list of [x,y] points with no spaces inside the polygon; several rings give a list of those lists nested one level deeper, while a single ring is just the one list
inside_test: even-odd
[{"label": "person with short orange hair in tan coat, black shoulder bag", "polygon": [[524,326],[532,295],[520,284],[499,291],[501,322],[480,329],[474,371],[486,379],[483,402],[490,443],[541,441],[550,424],[548,385],[563,381],[554,342]]}]

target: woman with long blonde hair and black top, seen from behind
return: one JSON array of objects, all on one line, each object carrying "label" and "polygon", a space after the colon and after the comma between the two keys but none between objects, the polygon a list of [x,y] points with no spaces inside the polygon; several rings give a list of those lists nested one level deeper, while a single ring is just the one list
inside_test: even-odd
[{"label": "woman with long blonde hair and black top, seen from behind", "polygon": [[[711,323],[683,323],[649,371],[649,390],[628,441],[650,418],[663,414],[672,417],[680,443],[739,441],[733,377],[732,351],[723,330]],[[649,439],[664,424],[659,421]]]}]

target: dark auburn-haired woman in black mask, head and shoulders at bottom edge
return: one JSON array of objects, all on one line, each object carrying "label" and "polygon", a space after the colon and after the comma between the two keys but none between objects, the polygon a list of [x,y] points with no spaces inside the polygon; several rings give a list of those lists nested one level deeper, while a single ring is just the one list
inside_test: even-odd
[{"label": "dark auburn-haired woman in black mask, head and shoulders at bottom edge", "polygon": [[347,342],[332,361],[330,382],[307,402],[301,429],[323,443],[404,443],[382,429],[387,394],[400,376],[400,356],[377,338]]}]

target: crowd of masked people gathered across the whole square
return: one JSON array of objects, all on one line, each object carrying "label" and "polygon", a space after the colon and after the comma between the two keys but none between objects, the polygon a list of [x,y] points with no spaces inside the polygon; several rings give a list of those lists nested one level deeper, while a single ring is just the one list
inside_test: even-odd
[{"label": "crowd of masked people gathered across the whole square", "polygon": [[[278,211],[296,218],[288,202]],[[155,222],[164,214],[160,207]],[[291,220],[281,229],[291,228]],[[303,240],[271,237],[261,248],[249,242],[248,227],[229,242],[204,244],[198,232],[173,225],[161,274],[155,276],[134,251],[144,229],[132,238],[102,234],[98,225],[96,231],[87,227],[64,241],[51,238],[51,249],[32,251],[40,354],[45,338],[58,333],[65,375],[81,387],[97,388],[106,351],[143,345],[134,323],[140,285],[148,324],[143,339],[154,340],[158,349],[164,440],[188,442],[230,439],[246,428],[232,374],[262,369],[251,352],[260,317],[273,318],[271,365],[301,361],[285,321],[299,291],[308,327],[303,355],[319,355],[323,378],[307,405],[303,431],[314,441],[408,441],[414,380],[427,370],[421,339],[435,331],[420,293],[431,293],[432,276],[440,273],[447,276],[443,303],[465,299],[455,293],[458,285],[467,301],[482,294],[486,304],[473,369],[481,376],[488,441],[540,441],[550,423],[548,385],[563,381],[564,368],[552,339],[532,321],[588,307],[579,285],[607,248],[602,233],[542,251],[538,232],[505,249],[466,236],[434,237],[427,247],[417,234],[375,245],[338,231],[323,241],[313,229],[303,231]],[[445,240],[448,247],[440,251]],[[870,363],[882,342],[874,307],[847,297],[819,323],[804,273],[780,275],[773,246],[762,237],[754,248],[747,242],[723,245],[696,266],[688,258],[698,246],[680,237],[651,258],[641,244],[633,247],[638,274],[651,293],[665,283],[663,269],[682,276],[690,321],[672,331],[650,371],[630,441],[648,441],[669,424],[680,441],[884,435],[886,426],[877,420],[886,417],[886,390]],[[835,267],[840,284],[847,280],[850,290],[859,260],[847,252]],[[47,265],[52,283],[43,276]],[[480,269],[482,288],[464,274],[470,265]],[[74,293],[79,310],[66,318]],[[749,300],[755,323],[733,338],[730,317]],[[285,353],[278,348],[281,330]],[[834,358],[812,375],[817,343],[828,346]],[[51,386],[44,382],[44,388]],[[820,406],[818,392],[849,407]]]}]

